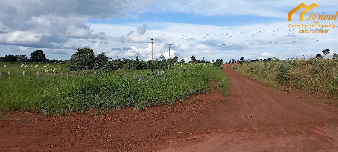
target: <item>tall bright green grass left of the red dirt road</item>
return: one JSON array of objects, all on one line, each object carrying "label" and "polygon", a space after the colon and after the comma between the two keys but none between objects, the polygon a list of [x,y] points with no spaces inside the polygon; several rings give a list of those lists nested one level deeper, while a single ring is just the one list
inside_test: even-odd
[{"label": "tall bright green grass left of the red dirt road", "polygon": [[[219,68],[181,69],[176,73],[165,72],[155,76],[149,70],[120,71],[111,73],[91,71],[82,76],[58,76],[40,79],[35,76],[0,78],[0,112],[31,111],[47,116],[65,112],[119,109],[134,107],[142,110],[152,105],[172,104],[193,94],[210,90],[209,82],[217,73],[217,81],[223,83]],[[128,74],[127,80],[124,76]],[[138,83],[138,74],[142,81]],[[152,75],[149,78],[149,75]],[[136,75],[136,79],[132,79]],[[226,77],[225,77],[226,78]],[[228,81],[228,80],[225,80]],[[228,83],[220,84],[219,89]]]}]

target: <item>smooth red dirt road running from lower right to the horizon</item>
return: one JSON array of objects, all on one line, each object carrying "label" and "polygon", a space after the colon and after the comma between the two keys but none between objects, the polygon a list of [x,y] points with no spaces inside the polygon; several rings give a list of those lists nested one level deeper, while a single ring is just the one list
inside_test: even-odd
[{"label": "smooth red dirt road running from lower right to the horizon", "polygon": [[200,143],[162,152],[337,152],[337,107],[306,101],[259,84],[224,64],[231,96],[214,113],[223,127]]}]

